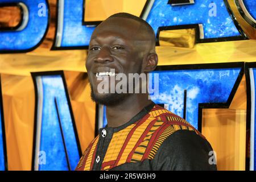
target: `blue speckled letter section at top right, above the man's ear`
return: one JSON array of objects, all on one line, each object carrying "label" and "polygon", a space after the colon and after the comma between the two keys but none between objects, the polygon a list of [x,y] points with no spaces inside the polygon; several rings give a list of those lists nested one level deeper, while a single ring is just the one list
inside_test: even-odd
[{"label": "blue speckled letter section at top right, above the man's ear", "polygon": [[[178,26],[184,24],[203,24],[204,38],[222,38],[240,36],[232,18],[226,9],[224,1],[197,0],[192,5],[171,6],[168,0],[155,0],[147,22],[155,32],[158,27]],[[209,16],[212,6],[216,5],[216,16]]]}]

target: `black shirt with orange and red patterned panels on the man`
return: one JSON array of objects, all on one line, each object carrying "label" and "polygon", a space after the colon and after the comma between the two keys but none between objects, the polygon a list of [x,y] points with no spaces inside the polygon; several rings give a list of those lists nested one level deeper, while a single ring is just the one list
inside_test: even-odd
[{"label": "black shirt with orange and red patterned panels on the man", "polygon": [[152,102],[125,125],[104,127],[76,167],[88,170],[216,170],[212,147],[183,118]]}]

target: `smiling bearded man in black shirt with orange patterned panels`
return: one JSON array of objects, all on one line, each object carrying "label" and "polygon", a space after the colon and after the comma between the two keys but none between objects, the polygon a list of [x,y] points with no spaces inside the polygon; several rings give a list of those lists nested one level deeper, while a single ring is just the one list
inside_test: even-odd
[{"label": "smiling bearded man in black shirt with orange patterned panels", "polygon": [[108,126],[89,144],[76,170],[216,170],[203,135],[148,99],[148,93],[99,91],[102,81],[118,73],[144,74],[157,64],[155,33],[144,20],[119,13],[96,27],[86,69],[92,99],[106,106]]}]

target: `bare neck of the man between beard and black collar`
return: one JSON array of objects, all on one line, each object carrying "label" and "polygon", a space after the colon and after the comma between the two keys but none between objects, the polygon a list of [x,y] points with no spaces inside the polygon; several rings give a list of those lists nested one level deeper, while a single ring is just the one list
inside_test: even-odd
[{"label": "bare neck of the man between beard and black collar", "polygon": [[106,107],[106,118],[109,127],[118,127],[129,122],[144,107],[149,105],[148,94],[133,94],[115,106]]}]

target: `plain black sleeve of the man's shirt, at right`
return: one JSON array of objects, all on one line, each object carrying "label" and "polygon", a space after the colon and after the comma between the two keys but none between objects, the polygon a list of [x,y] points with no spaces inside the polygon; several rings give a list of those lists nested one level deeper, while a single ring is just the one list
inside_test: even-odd
[{"label": "plain black sleeve of the man's shirt, at right", "polygon": [[211,151],[209,142],[195,131],[175,131],[159,147],[152,168],[155,171],[217,170],[216,164],[209,162]]}]

